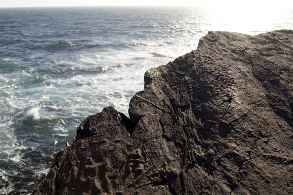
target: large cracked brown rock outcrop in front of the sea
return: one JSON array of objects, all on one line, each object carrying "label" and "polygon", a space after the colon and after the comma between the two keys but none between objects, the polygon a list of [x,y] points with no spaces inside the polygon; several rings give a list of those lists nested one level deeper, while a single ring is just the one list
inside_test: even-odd
[{"label": "large cracked brown rock outcrop in front of the sea", "polygon": [[291,30],[209,32],[129,106],[87,117],[33,194],[293,194]]}]

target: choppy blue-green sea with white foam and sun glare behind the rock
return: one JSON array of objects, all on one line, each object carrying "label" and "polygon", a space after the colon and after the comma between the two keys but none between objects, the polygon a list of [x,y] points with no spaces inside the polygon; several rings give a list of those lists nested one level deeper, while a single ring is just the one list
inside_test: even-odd
[{"label": "choppy blue-green sea with white foam and sun glare behind the rock", "polygon": [[293,10],[1,8],[0,194],[30,194],[85,117],[110,105],[127,115],[146,70],[208,31],[279,29],[293,29]]}]

